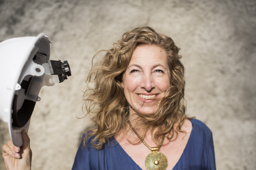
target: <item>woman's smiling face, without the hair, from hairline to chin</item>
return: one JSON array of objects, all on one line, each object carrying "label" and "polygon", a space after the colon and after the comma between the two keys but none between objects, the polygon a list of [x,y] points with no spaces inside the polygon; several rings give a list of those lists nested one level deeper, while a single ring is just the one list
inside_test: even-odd
[{"label": "woman's smiling face, without the hair, from hairline to chin", "polygon": [[138,46],[122,80],[130,114],[134,113],[134,109],[155,113],[160,100],[152,99],[165,96],[170,87],[170,78],[165,50],[155,45]]}]

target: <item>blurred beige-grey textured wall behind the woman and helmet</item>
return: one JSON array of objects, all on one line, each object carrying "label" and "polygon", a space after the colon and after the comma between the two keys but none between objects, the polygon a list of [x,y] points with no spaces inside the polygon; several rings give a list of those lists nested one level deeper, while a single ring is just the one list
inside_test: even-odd
[{"label": "blurred beige-grey textured wall behind the woman and helmet", "polygon": [[[217,169],[255,169],[255,0],[0,0],[0,41],[44,32],[51,59],[68,60],[72,71],[39,94],[28,133],[32,169],[71,169],[91,126],[76,116],[83,116],[92,56],[138,26],[169,35],[181,48],[187,113],[212,130]],[[1,121],[0,136],[2,148],[10,137]]]}]

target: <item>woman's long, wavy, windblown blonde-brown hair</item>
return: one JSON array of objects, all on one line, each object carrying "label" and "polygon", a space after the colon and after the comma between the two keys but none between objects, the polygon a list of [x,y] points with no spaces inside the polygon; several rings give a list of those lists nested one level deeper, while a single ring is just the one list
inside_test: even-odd
[{"label": "woman's long, wavy, windblown blonde-brown hair", "polygon": [[[90,139],[90,144],[100,150],[111,137],[127,126],[129,103],[124,97],[122,75],[130,63],[133,51],[140,45],[156,45],[164,49],[171,73],[169,93],[161,99],[156,113],[136,113],[144,122],[141,137],[143,138],[146,129],[151,127],[152,138],[160,145],[159,139],[164,134],[172,132],[171,137],[168,137],[170,141],[174,132],[182,131],[181,125],[188,116],[185,114],[184,105],[184,67],[180,62],[181,56],[178,55],[180,48],[170,37],[158,34],[153,28],[138,27],[124,33],[122,38],[113,44],[113,48],[99,51],[92,59],[92,69],[86,82],[94,83],[94,86],[88,86],[84,92],[84,108],[87,114],[92,116],[96,127],[87,132],[85,145]],[[105,52],[105,55],[94,66],[93,60],[101,52]],[[174,128],[176,122],[178,127]],[[156,128],[158,130],[153,134]]]}]

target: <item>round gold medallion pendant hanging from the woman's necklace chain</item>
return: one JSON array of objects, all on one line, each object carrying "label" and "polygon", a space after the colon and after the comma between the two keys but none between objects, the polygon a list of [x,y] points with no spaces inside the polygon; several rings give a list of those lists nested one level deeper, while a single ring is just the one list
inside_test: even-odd
[{"label": "round gold medallion pendant hanging from the woman's necklace chain", "polygon": [[[155,149],[155,150],[154,150]],[[152,152],[145,159],[145,166],[148,170],[165,170],[168,166],[168,159],[158,148],[151,148]]]}]

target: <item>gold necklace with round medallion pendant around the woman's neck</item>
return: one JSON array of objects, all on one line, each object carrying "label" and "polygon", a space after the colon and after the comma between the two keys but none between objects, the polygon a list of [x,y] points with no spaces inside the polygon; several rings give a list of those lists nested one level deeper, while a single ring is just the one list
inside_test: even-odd
[{"label": "gold necklace with round medallion pendant around the woman's neck", "polygon": [[[136,132],[135,129],[133,129],[132,125],[130,124],[130,128],[134,131],[134,133],[140,138],[140,140],[145,144],[148,149],[150,149],[152,152],[148,154],[148,156],[145,159],[145,166],[148,170],[165,170],[168,166],[168,159],[162,152],[158,152],[161,145],[158,147],[149,147],[146,142],[140,137],[140,135]],[[163,144],[164,142],[165,134],[162,138],[162,141],[160,144]]]}]

